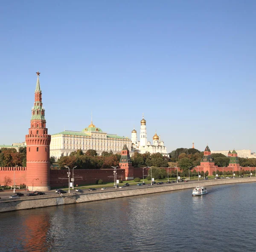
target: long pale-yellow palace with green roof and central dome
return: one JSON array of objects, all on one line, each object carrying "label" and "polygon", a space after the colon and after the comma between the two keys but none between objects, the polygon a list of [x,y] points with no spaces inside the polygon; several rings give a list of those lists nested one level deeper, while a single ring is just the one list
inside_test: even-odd
[{"label": "long pale-yellow palace with green roof and central dome", "polygon": [[81,132],[63,131],[53,134],[50,143],[50,157],[58,160],[61,155],[68,156],[78,149],[83,152],[93,149],[99,155],[104,151],[120,154],[125,144],[131,150],[131,139],[107,134],[97,128],[91,121],[91,124]]}]

